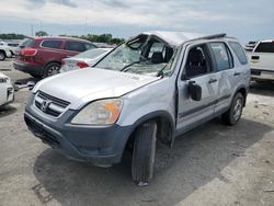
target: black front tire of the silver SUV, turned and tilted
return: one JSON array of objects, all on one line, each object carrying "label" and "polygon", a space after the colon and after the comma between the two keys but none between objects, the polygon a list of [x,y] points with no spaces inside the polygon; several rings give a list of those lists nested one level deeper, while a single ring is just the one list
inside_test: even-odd
[{"label": "black front tire of the silver SUV, turned and tilted", "polygon": [[147,122],[135,133],[132,176],[139,186],[148,185],[153,178],[157,124]]}]

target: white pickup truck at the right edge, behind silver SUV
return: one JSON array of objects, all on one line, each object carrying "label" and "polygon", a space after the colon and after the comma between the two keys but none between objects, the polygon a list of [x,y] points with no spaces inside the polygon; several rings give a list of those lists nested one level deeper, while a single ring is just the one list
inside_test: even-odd
[{"label": "white pickup truck at the right edge, behind silver SUV", "polygon": [[251,79],[260,82],[274,81],[274,39],[260,41],[252,52],[247,53],[251,68]]}]

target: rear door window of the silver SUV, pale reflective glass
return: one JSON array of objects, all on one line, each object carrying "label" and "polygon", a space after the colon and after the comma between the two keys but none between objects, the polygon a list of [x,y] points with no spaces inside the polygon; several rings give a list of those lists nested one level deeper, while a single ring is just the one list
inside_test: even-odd
[{"label": "rear door window of the silver SUV, pale reflective glass", "polygon": [[232,56],[224,43],[210,43],[209,46],[213,49],[218,71],[233,67]]}]

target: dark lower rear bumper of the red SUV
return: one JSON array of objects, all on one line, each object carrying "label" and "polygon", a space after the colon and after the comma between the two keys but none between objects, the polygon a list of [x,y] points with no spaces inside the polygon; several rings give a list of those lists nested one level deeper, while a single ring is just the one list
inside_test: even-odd
[{"label": "dark lower rear bumper of the red SUV", "polygon": [[13,68],[33,76],[43,76],[43,67],[14,60]]}]

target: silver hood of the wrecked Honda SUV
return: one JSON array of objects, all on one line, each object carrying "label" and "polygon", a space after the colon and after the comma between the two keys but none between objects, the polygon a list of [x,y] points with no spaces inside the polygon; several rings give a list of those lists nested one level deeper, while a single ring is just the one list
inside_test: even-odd
[{"label": "silver hood of the wrecked Honda SUV", "polygon": [[118,98],[160,77],[140,76],[106,69],[90,68],[60,73],[39,81],[33,89],[70,102],[70,108],[98,99]]}]

